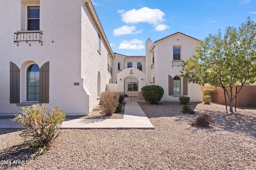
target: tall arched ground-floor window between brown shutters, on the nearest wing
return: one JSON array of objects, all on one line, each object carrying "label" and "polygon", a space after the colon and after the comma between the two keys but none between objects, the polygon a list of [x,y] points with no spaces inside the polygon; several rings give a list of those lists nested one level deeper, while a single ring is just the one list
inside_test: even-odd
[{"label": "tall arched ground-floor window between brown shutters, on the nearest wing", "polygon": [[27,100],[39,101],[39,66],[32,64],[27,70]]}]

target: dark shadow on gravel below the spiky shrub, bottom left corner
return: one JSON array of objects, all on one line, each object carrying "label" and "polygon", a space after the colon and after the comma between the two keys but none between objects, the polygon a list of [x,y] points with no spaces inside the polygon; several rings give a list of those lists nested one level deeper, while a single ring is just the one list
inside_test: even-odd
[{"label": "dark shadow on gravel below the spiky shrub, bottom left corner", "polygon": [[20,165],[28,164],[31,158],[38,156],[35,149],[30,149],[24,144],[14,145],[0,150],[1,169],[13,169]]}]

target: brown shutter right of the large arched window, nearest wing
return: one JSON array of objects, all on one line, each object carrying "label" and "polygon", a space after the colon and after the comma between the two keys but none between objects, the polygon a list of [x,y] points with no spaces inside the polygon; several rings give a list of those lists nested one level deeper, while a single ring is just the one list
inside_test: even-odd
[{"label": "brown shutter right of the large arched window, nearest wing", "polygon": [[49,69],[48,61],[39,70],[39,103],[49,103]]}]

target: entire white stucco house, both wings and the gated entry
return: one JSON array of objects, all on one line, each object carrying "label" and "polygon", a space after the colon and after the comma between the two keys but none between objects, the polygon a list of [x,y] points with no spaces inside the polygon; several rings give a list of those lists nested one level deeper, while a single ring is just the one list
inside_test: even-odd
[{"label": "entire white stucco house, both wings and the gated entry", "polygon": [[180,77],[198,39],[177,32],[126,56],[112,52],[91,0],[0,1],[0,14],[0,113],[39,103],[86,115],[103,91],[144,100],[151,84],[164,88],[162,100],[202,100],[200,86]]}]

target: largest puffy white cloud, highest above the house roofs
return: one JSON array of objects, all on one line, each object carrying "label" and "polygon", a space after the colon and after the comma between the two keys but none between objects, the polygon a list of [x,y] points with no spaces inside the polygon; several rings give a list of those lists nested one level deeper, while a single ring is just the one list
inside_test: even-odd
[{"label": "largest puffy white cloud, highest above the house roofs", "polygon": [[159,25],[164,21],[164,12],[159,9],[150,9],[148,7],[133,9],[129,11],[122,11],[122,21],[125,23],[140,23],[147,22],[154,26]]}]

